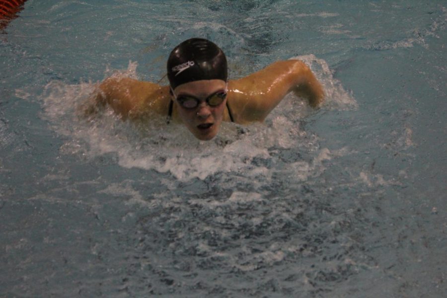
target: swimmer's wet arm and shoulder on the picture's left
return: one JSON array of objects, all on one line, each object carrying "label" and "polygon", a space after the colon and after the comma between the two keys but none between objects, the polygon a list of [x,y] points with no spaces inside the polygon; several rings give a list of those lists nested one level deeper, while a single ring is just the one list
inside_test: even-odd
[{"label": "swimmer's wet arm and shoulder on the picture's left", "polygon": [[161,114],[166,109],[166,96],[166,87],[129,77],[109,77],[99,84],[84,111],[88,114],[108,104],[123,119],[136,118],[146,109]]}]

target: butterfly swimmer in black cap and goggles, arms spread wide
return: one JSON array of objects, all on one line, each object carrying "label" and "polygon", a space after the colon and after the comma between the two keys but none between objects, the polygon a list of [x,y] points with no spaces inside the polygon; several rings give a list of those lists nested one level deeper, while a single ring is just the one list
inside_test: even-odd
[{"label": "butterfly swimmer in black cap and goggles, arms spread wide", "polygon": [[175,47],[167,61],[168,86],[128,77],[109,77],[85,112],[108,104],[122,119],[159,114],[183,123],[199,140],[211,140],[222,121],[262,122],[289,92],[318,107],[321,84],[301,61],[275,62],[240,79],[228,80],[224,52],[213,42],[192,38]]}]

